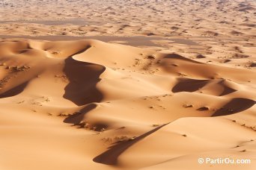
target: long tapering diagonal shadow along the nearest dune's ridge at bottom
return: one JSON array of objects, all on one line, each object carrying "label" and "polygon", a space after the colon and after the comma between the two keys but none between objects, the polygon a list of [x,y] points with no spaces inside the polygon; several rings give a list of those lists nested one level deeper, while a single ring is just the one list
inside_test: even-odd
[{"label": "long tapering diagonal shadow along the nearest dune's ridge at bottom", "polygon": [[[168,124],[165,124],[168,125]],[[134,145],[136,142],[140,141],[141,139],[144,139],[145,137],[149,136],[150,134],[156,132],[156,130],[159,130],[160,128],[164,127],[165,125],[156,127],[153,130],[148,131],[147,133],[142,134],[141,136],[136,137],[135,139],[128,140],[127,142],[122,142],[120,144],[114,145],[109,148],[108,151],[103,152],[103,154],[100,154],[97,157],[94,157],[95,163],[103,163],[106,165],[115,165],[118,162],[118,157],[127,150],[127,148]]]}]

